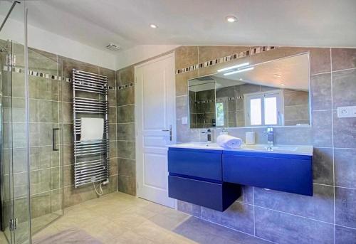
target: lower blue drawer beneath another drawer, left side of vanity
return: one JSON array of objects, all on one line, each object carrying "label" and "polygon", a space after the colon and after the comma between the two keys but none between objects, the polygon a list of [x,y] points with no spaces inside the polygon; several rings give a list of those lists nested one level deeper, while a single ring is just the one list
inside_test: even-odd
[{"label": "lower blue drawer beneath another drawer, left side of vanity", "polygon": [[179,176],[168,176],[168,196],[206,208],[224,211],[240,196],[235,184],[217,184]]}]

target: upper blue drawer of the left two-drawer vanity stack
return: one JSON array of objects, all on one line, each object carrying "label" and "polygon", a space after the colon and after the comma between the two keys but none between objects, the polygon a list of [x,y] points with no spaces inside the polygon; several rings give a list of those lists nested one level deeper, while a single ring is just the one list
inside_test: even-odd
[{"label": "upper blue drawer of the left two-drawer vanity stack", "polygon": [[222,180],[221,151],[169,148],[169,173]]}]

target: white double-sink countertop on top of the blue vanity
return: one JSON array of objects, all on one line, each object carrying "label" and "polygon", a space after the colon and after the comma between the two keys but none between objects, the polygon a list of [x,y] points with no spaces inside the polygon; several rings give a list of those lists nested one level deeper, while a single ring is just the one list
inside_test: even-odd
[{"label": "white double-sink countertop on top of the blue vanity", "polygon": [[243,144],[238,149],[226,149],[220,147],[213,142],[188,142],[181,144],[170,145],[169,147],[180,147],[190,149],[211,149],[211,150],[229,150],[229,151],[242,151],[242,152],[266,152],[276,154],[297,154],[297,155],[313,155],[313,146],[294,146],[294,145],[275,145],[271,149],[268,149],[267,144]]}]

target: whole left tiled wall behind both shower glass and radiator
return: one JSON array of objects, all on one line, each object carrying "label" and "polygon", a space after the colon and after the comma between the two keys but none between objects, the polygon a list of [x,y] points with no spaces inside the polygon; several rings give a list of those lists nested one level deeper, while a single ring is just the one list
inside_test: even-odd
[{"label": "whole left tiled wall behind both shower glass and radiator", "polygon": [[[23,67],[23,57],[16,57],[16,67]],[[4,62],[1,62],[4,64]],[[117,137],[116,137],[116,82],[115,71],[100,68],[88,63],[61,57],[52,53],[29,49],[29,69],[50,75],[60,75],[71,78],[73,68],[88,72],[107,75],[109,85],[114,87],[109,91],[109,134],[110,134],[110,184],[103,186],[104,193],[117,191]],[[4,67],[1,67],[1,70]],[[4,71],[5,72],[5,71]],[[12,76],[11,84],[3,80],[4,135],[6,125],[12,112],[14,139],[14,192],[16,193],[16,216],[19,222],[26,221],[26,164],[25,164],[25,100],[24,74],[8,72]],[[6,73],[3,73],[3,76]],[[8,79],[10,80],[10,79]],[[11,98],[6,97],[11,95]],[[93,185],[75,189],[73,186],[73,91],[72,83],[52,78],[29,76],[29,105],[30,105],[30,176],[31,176],[31,214],[32,218],[53,213],[63,207],[96,198]],[[12,110],[10,109],[12,107]],[[59,144],[63,154],[52,150],[52,128],[61,127],[63,144]],[[9,132],[9,129],[7,130]],[[4,139],[5,142],[9,138]],[[4,145],[8,147],[9,145]],[[11,157],[4,150],[4,162]],[[63,155],[63,169],[60,159]],[[6,166],[6,164],[4,164]],[[9,171],[9,170],[7,170]],[[6,177],[6,176],[5,176]],[[6,179],[5,179],[6,181]],[[63,182],[63,185],[62,185]],[[61,193],[63,190],[63,205]],[[21,219],[23,218],[23,219]]]}]

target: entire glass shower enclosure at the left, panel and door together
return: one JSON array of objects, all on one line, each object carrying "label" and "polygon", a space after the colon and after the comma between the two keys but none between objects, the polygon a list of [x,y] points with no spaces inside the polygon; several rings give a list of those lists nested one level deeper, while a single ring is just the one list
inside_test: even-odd
[{"label": "entire glass shower enclosure at the left, panel and door together", "polygon": [[63,215],[62,68],[27,48],[26,1],[0,9],[0,243],[31,243]]}]

